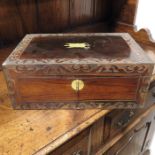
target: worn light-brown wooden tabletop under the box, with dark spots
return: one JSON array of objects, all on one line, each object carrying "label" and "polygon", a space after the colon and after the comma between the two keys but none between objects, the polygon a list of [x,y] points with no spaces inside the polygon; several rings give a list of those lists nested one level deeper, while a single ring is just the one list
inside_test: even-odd
[{"label": "worn light-brown wooden tabletop under the box, with dark spots", "polygon": [[[0,154],[30,155],[53,150],[108,110],[13,110],[0,72]],[[49,147],[50,146],[50,147]]]}]

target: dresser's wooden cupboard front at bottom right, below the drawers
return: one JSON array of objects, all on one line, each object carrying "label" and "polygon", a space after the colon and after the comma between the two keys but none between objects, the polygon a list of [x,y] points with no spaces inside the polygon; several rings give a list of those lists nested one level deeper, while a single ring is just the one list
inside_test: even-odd
[{"label": "dresser's wooden cupboard front at bottom right, below the drawers", "polygon": [[[142,111],[146,113],[144,109]],[[137,155],[143,154],[143,152],[149,149],[152,135],[154,132],[153,129],[155,128],[153,124],[154,111],[150,111],[147,115],[142,117],[144,113],[141,113],[141,115],[139,115],[138,119],[142,119],[138,123],[138,125],[135,125],[133,130],[125,134],[122,139],[120,139],[103,155],[124,155],[129,154],[129,152],[131,155]],[[133,123],[131,125],[133,125]]]}]

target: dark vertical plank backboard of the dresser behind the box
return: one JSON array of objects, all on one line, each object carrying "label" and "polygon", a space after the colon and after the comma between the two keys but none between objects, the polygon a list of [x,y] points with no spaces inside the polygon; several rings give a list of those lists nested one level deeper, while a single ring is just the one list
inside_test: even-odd
[{"label": "dark vertical plank backboard of the dresser behind the box", "polygon": [[27,33],[63,32],[104,21],[107,0],[1,0],[0,46]]}]

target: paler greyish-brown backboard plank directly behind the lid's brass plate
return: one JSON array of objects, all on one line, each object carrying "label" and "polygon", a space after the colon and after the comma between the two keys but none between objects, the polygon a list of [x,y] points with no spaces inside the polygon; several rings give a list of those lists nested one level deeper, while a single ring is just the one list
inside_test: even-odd
[{"label": "paler greyish-brown backboard plank directly behind the lid's brass plate", "polygon": [[70,22],[72,26],[91,23],[93,0],[70,0]]}]

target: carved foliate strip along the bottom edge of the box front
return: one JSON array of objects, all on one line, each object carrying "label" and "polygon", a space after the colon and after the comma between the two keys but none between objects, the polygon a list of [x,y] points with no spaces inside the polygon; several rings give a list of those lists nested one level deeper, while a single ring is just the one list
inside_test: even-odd
[{"label": "carved foliate strip along the bottom edge of the box front", "polygon": [[48,103],[22,103],[14,104],[15,109],[134,109],[144,105],[138,105],[134,101],[89,101],[89,102],[48,102]]}]

